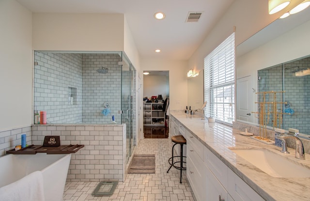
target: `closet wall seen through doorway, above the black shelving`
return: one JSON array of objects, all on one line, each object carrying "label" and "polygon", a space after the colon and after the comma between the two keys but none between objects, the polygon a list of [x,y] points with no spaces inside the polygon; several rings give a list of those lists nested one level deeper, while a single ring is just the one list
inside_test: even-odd
[{"label": "closet wall seen through doorway, above the black shelving", "polygon": [[163,100],[169,97],[169,77],[165,75],[143,76],[143,97],[151,99],[152,96],[162,95]]}]

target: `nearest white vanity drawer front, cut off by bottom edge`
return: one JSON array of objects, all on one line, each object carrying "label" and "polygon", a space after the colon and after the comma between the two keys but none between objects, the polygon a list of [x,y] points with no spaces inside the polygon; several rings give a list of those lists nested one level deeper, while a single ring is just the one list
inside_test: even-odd
[{"label": "nearest white vanity drawer front, cut off by bottom edge", "polygon": [[228,170],[228,193],[235,201],[264,201],[264,199],[248,186],[231,169]]}]

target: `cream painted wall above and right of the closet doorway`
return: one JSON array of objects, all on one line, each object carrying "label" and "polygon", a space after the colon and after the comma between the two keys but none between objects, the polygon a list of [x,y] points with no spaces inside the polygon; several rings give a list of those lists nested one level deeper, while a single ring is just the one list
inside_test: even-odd
[{"label": "cream painted wall above and right of the closet doorway", "polygon": [[141,59],[140,65],[142,70],[169,71],[169,87],[170,87],[169,108],[170,110],[183,110],[186,108],[187,61],[144,58]]}]

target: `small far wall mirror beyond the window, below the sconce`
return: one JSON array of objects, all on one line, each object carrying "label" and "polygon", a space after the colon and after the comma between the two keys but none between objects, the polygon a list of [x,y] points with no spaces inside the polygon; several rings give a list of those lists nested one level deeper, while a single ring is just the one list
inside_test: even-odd
[{"label": "small far wall mirror beyond the window, below the sconce", "polygon": [[203,70],[196,77],[187,80],[188,106],[192,110],[201,109],[203,105]]}]

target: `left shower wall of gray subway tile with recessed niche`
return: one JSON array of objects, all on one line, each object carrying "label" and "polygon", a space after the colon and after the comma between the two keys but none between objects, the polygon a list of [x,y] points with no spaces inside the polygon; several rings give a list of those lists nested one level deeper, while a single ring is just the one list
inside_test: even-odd
[{"label": "left shower wall of gray subway tile with recessed niche", "polygon": [[82,55],[35,51],[34,61],[34,110],[47,111],[47,123],[82,122]]}]

